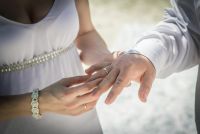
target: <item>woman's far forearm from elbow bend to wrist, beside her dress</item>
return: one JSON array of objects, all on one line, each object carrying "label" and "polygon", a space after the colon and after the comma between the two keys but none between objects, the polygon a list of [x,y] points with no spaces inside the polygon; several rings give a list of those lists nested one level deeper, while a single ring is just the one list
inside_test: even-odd
[{"label": "woman's far forearm from elbow bend to wrist, beside her dress", "polygon": [[96,30],[84,33],[77,38],[81,60],[88,65],[98,63],[112,54]]}]

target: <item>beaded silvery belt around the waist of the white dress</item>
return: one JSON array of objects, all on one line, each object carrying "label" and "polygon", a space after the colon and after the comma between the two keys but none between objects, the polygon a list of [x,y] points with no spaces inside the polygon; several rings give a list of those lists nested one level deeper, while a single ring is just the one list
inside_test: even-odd
[{"label": "beaded silvery belt around the waist of the white dress", "polygon": [[61,55],[62,53],[66,52],[70,48],[72,48],[73,45],[67,47],[67,48],[61,48],[55,51],[51,51],[49,53],[45,53],[39,56],[34,56],[32,59],[24,60],[22,62],[13,63],[10,65],[2,65],[0,66],[0,73],[6,73],[6,72],[12,72],[17,70],[23,70],[28,67],[32,67],[33,65],[37,65],[40,63],[43,63],[45,61],[49,61],[54,59],[55,57]]}]

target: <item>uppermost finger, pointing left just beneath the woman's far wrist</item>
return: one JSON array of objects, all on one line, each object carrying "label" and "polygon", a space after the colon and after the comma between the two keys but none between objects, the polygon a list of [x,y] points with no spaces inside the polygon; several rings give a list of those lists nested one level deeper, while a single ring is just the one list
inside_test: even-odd
[{"label": "uppermost finger, pointing left just beneath the woman's far wrist", "polygon": [[92,65],[91,67],[89,67],[88,69],[85,70],[85,72],[87,74],[92,74],[94,73],[95,71],[98,71],[108,65],[111,65],[111,62],[102,62],[102,63],[97,63],[95,65]]}]

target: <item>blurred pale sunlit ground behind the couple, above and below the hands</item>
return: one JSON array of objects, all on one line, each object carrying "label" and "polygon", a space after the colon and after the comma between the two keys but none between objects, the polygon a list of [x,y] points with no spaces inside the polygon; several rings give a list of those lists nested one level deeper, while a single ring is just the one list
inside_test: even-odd
[{"label": "blurred pale sunlit ground behind the couple, above and below the hands", "polygon": [[[93,23],[109,49],[126,50],[162,19],[168,0],[90,0]],[[97,105],[105,134],[196,134],[194,94],[197,67],[157,79],[147,103],[141,103],[133,83],[107,106]]]}]

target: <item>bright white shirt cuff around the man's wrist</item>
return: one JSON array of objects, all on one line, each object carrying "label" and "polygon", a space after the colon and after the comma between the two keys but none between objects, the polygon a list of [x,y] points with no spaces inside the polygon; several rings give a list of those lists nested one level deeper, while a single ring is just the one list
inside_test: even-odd
[{"label": "bright white shirt cuff around the man's wrist", "polygon": [[127,53],[137,53],[145,56],[153,64],[156,75],[164,69],[167,60],[167,49],[161,40],[156,38],[144,39],[136,43]]}]

